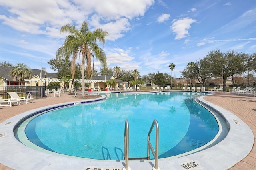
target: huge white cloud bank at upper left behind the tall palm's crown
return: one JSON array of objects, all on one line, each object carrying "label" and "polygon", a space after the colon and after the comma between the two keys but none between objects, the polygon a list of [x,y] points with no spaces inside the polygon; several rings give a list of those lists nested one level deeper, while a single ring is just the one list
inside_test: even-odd
[{"label": "huge white cloud bank at upper left behind the tall palm's crown", "polygon": [[[144,16],[154,0],[146,1],[1,1],[10,15],[1,15],[2,24],[30,34],[65,38],[60,28],[74,23],[78,28],[84,20],[90,27],[109,32],[108,40],[116,40],[130,30],[132,18]],[[106,8],[106,6],[108,8]],[[4,13],[3,13],[4,14]]]}]

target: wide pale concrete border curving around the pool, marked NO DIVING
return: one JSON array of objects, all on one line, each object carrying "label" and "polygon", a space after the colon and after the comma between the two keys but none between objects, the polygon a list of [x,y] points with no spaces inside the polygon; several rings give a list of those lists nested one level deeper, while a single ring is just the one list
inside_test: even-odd
[{"label": "wide pale concrete border curving around the pool, marked NO DIVING", "polygon": [[[163,91],[167,92],[167,91]],[[184,91],[182,91],[184,92]],[[194,162],[197,169],[228,169],[234,164],[246,157],[253,146],[254,136],[252,130],[241,119],[236,117],[233,113],[226,111],[225,109],[214,105],[203,99],[201,96],[199,100],[222,113],[225,119],[230,124],[230,131],[226,138],[211,148],[207,148],[197,153],[193,153],[187,156],[179,158],[163,158],[159,159],[159,167],[162,170],[169,169],[181,169],[184,170],[184,166],[191,166],[187,164]],[[82,100],[84,101],[84,100]],[[86,101],[95,101],[86,100]],[[46,109],[48,107],[54,107],[58,105],[65,105],[75,102],[67,102],[62,104],[51,105],[47,107],[40,107],[38,109]],[[6,133],[6,136],[0,138],[0,161],[2,164],[14,168],[14,169],[86,169],[91,170],[93,168],[120,168],[124,167],[125,162],[115,160],[92,160],[85,158],[75,158],[52,155],[44,152],[28,148],[20,142],[18,142],[13,134],[13,128],[23,117],[38,111],[33,109],[24,112],[20,115],[16,115],[0,124],[0,134]],[[236,120],[237,122],[235,122]],[[11,123],[9,123],[11,122]],[[152,169],[155,162],[154,160],[147,161],[129,161],[129,167],[131,169]],[[184,166],[182,166],[184,165]]]}]

